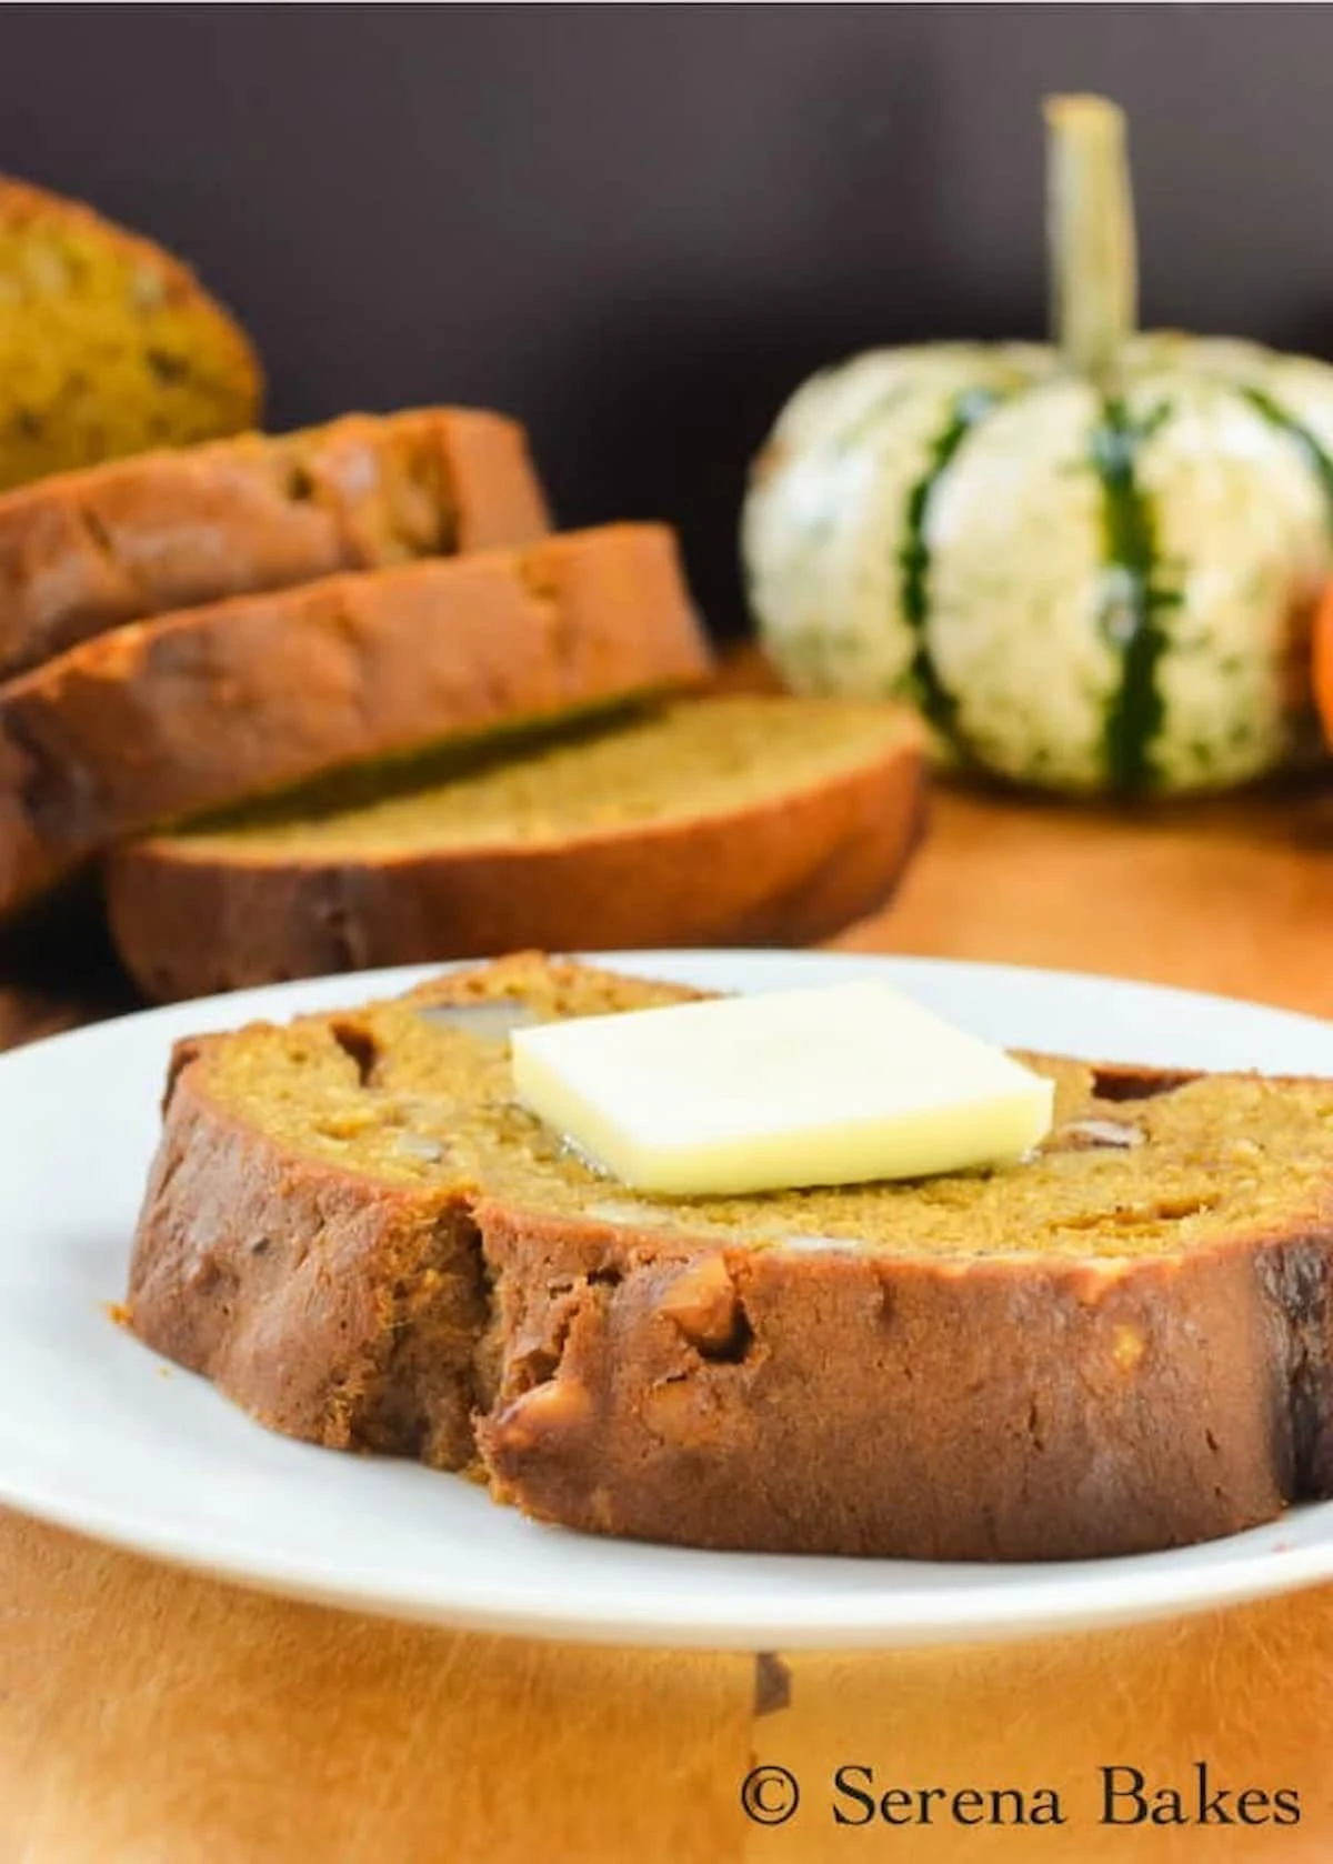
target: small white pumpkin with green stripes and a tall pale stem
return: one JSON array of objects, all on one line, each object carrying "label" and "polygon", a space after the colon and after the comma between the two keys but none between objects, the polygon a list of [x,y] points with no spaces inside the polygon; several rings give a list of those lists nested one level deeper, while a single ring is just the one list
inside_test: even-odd
[{"label": "small white pumpkin with green stripes and a tall pale stem", "polygon": [[1309,742],[1333,574],[1333,367],[1132,336],[1119,110],[1048,104],[1059,343],[856,356],[805,382],[744,513],[804,693],[908,697],[958,762],[1051,790],[1219,788]]}]

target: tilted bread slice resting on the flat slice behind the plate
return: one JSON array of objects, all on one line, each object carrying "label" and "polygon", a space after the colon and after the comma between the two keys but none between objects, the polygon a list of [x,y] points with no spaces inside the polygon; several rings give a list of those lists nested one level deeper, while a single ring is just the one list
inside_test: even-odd
[{"label": "tilted bread slice resting on the flat slice behind the plate", "polygon": [[0,688],[0,911],[160,824],[708,665],[647,524],[129,623]]}]

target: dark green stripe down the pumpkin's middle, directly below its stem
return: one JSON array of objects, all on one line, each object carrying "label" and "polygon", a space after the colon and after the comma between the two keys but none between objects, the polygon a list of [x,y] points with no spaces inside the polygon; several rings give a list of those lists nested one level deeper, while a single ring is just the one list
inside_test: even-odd
[{"label": "dark green stripe down the pumpkin's middle, directly below its stem", "polygon": [[1109,397],[1093,429],[1091,462],[1102,481],[1104,580],[1102,632],[1120,654],[1120,682],[1106,712],[1102,755],[1107,781],[1124,796],[1152,787],[1152,742],[1165,723],[1158,662],[1169,636],[1161,626],[1180,591],[1161,580],[1152,498],[1137,475],[1137,455],[1169,406],[1135,421],[1124,401]]}]

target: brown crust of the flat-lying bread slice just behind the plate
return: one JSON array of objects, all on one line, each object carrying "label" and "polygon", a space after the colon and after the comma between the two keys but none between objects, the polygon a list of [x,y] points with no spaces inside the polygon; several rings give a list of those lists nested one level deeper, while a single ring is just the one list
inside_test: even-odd
[{"label": "brown crust of the flat-lying bread slice just behind the plate", "polygon": [[[820,714],[818,703],[798,699],[686,706],[721,746],[736,712],[748,714],[744,723],[772,718],[776,753],[779,727]],[[848,733],[867,736],[869,710],[830,706],[824,727],[845,712]],[[653,729],[602,733],[595,749],[623,744],[632,774],[645,725]],[[121,960],[155,999],[526,945],[807,945],[884,904],[923,820],[921,736],[884,708],[856,762],[777,766],[766,794],[725,809],[692,805],[686,790],[647,820],[626,811],[543,839],[515,822],[507,839],[453,846],[433,844],[427,820],[419,846],[360,854],[323,852],[319,841],[302,848],[300,839],[287,854],[252,852],[242,837],[164,837],[110,857],[106,902]]]}]

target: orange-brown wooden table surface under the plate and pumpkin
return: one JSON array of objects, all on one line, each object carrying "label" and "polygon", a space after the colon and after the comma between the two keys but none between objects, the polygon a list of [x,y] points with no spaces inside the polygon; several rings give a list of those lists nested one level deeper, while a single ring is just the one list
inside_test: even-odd
[{"label": "orange-brown wooden table surface under the plate and pumpkin", "polygon": [[[1158,979],[1333,1014],[1333,805],[1120,820],[941,796],[839,943]],[[95,943],[9,953],[0,1040],[121,1007]],[[962,1650],[638,1653],[453,1635],[196,1579],[0,1515],[0,1864],[1333,1857],[1333,1588]],[[800,1776],[781,1829],[738,1804]],[[1296,1788],[1296,1827],[1096,1823],[1098,1769]],[[1059,1829],[833,1823],[831,1773],[1055,1786]],[[845,1810],[856,1812],[852,1801]],[[936,1802],[938,1804],[938,1802]]]}]

